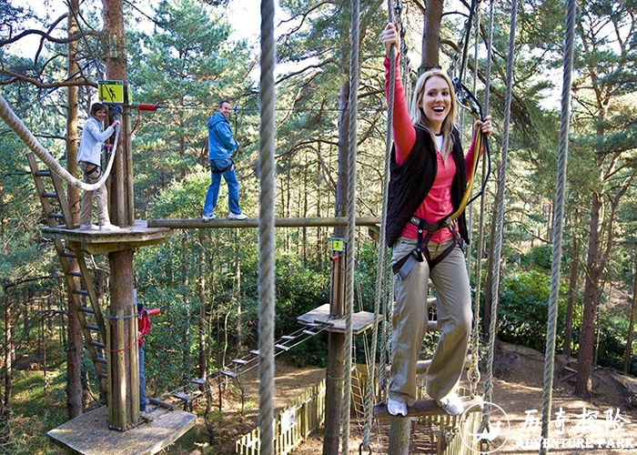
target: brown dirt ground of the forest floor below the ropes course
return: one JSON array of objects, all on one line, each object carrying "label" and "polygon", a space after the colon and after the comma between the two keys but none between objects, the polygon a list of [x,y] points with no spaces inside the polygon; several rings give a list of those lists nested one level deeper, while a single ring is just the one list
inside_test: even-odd
[{"label": "brown dirt ground of the forest floor below the ropes course", "polygon": [[[549,452],[559,454],[591,455],[637,454],[637,379],[621,377],[606,369],[596,369],[593,375],[594,398],[591,402],[575,397],[572,368],[575,359],[558,356],[553,381]],[[542,419],[542,384],[544,355],[533,349],[505,343],[498,344],[494,361],[493,393],[490,406],[491,428],[501,430],[501,436],[491,442],[482,453],[531,454],[539,452]],[[276,410],[282,410],[304,390],[325,378],[325,370],[297,369],[281,360],[276,363]],[[479,392],[484,390],[482,373]],[[258,414],[258,373],[249,372],[242,379],[244,412],[240,428],[235,425],[224,436],[236,440],[242,432],[254,425]],[[248,403],[248,405],[246,405]],[[235,406],[240,403],[236,402]],[[234,419],[234,423],[238,421]],[[431,428],[412,421],[410,453],[432,451]],[[435,429],[434,429],[435,430]],[[387,453],[388,424],[376,422],[372,428],[371,443],[374,453]],[[224,431],[226,432],[226,431]],[[359,453],[362,423],[352,418],[349,453]],[[232,453],[230,447],[219,453]],[[295,450],[296,455],[322,453],[322,434],[318,431]],[[363,451],[363,453],[369,453]],[[480,451],[476,451],[480,453]]]}]

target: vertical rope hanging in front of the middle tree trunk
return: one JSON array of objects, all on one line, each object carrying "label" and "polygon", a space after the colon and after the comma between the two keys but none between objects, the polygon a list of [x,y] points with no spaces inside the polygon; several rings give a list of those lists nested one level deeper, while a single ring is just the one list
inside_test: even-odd
[{"label": "vertical rope hanging in front of the middle tree trunk", "polygon": [[356,235],[356,152],[359,113],[359,0],[351,0],[349,49],[349,167],[348,167],[348,255],[345,287],[345,361],[343,362],[343,409],[341,453],[349,453],[349,406],[351,403],[351,313],[354,308],[354,263]]}]

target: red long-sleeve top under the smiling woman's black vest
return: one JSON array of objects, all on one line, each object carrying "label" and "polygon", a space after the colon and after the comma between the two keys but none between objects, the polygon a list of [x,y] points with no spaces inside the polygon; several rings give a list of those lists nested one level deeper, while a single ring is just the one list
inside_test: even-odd
[{"label": "red long-sleeve top under the smiling woman's black vest", "polygon": [[[385,93],[388,96],[389,103],[389,58],[385,57]],[[394,89],[394,118],[391,126],[394,145],[396,147],[396,164],[401,165],[410,156],[411,150],[416,144],[416,128],[411,123],[410,113],[405,100],[405,88],[400,80],[399,54],[396,56],[396,85]],[[475,136],[471,140],[471,145],[467,155],[464,157],[465,166],[467,167],[467,179],[469,180],[473,173],[473,157],[475,153]],[[436,150],[438,158],[438,173],[433,181],[430,192],[424,198],[420,207],[414,215],[424,219],[428,223],[438,223],[440,219],[448,217],[453,213],[453,204],[451,203],[451,183],[453,176],[456,174],[456,163],[452,157],[447,158],[444,162],[440,155],[440,150]],[[418,238],[418,227],[412,223],[407,223],[400,234],[406,238]],[[440,229],[436,231],[430,238],[432,242],[442,243],[451,238],[449,229]]]}]

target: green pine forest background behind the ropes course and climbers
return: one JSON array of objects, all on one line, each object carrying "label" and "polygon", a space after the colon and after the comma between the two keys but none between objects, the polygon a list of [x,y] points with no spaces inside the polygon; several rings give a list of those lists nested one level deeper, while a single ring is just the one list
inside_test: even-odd
[{"label": "green pine forest background behind the ropes course and climbers", "polygon": [[[103,78],[102,5],[82,2],[81,33],[69,36],[66,11],[51,16],[47,5],[52,4],[65,5],[45,2],[43,8],[29,9],[0,0],[0,85],[25,125],[66,163],[67,122],[84,123],[97,100],[96,81]],[[136,1],[124,3],[134,102],[159,106],[133,119],[137,219],[201,216],[209,183],[205,125],[221,98],[234,106],[230,122],[240,144],[235,161],[242,209],[258,216],[258,46],[233,34],[228,17],[233,4],[169,0],[149,9]],[[407,32],[401,63],[409,86],[420,65],[426,6],[419,0],[400,5]],[[445,5],[440,27],[440,64],[456,74],[469,6]],[[479,100],[484,99],[489,6],[477,6],[478,26],[470,35],[465,70],[465,84],[474,87]],[[380,1],[361,7],[358,211],[379,216],[386,103],[378,36],[387,10]],[[487,307],[509,7],[494,5],[490,115],[496,132],[490,141],[493,172],[486,187],[487,235],[480,258],[481,300]],[[549,303],[564,10],[556,0],[521,4],[511,86],[498,333],[502,340],[538,350],[545,349]],[[252,14],[258,15],[258,6]],[[277,216],[331,217],[341,208],[336,194],[340,126],[347,110],[342,95],[349,74],[349,2],[279,0],[278,14]],[[634,376],[637,3],[587,1],[577,17],[558,349]],[[71,43],[77,45],[80,67],[73,77],[67,74]],[[67,103],[69,86],[78,87],[75,117]],[[465,136],[471,121],[466,114],[459,119]],[[5,315],[0,321],[0,430],[3,449],[14,453],[33,452],[46,430],[73,413],[65,408],[66,287],[55,249],[39,232],[42,208],[24,153],[24,144],[0,125],[0,309]],[[226,194],[222,185],[217,215],[226,215]],[[470,207],[473,238],[479,206]],[[298,329],[299,315],[329,301],[333,234],[325,227],[278,229],[276,336]],[[356,308],[371,310],[378,238],[367,228],[358,234]],[[148,308],[162,309],[147,336],[151,395],[255,348],[257,245],[256,229],[176,230],[166,244],[136,251],[139,298]],[[473,281],[477,249],[470,249]],[[106,257],[96,256],[92,266],[106,306]],[[488,326],[484,319],[482,329]],[[324,365],[326,352],[326,340],[317,338],[286,357],[298,365]],[[97,392],[90,360],[84,359],[82,367],[82,408],[88,410],[98,405]],[[584,398],[594,395],[585,378],[578,389]]]}]

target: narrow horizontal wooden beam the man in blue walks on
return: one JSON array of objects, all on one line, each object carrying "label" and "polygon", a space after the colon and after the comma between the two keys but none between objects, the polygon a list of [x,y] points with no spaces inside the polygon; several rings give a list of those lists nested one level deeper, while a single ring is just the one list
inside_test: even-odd
[{"label": "narrow horizontal wooden beam the man in blue walks on", "polygon": [[[203,229],[219,227],[258,227],[258,218],[242,220],[215,218],[204,221],[194,219],[149,219],[148,227],[170,227],[171,229]],[[357,217],[357,226],[376,226],[380,224],[380,217]],[[275,218],[275,227],[336,227],[348,226],[348,217],[291,217]]]}]

